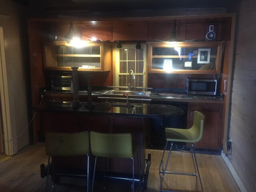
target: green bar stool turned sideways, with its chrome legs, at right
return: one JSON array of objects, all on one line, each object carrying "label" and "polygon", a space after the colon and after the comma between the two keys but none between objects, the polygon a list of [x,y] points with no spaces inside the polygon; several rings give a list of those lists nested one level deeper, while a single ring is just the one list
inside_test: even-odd
[{"label": "green bar stool turned sideways, with its chrome legs, at right", "polygon": [[[164,148],[164,153],[166,151],[166,147],[168,142],[171,142],[171,146],[170,146],[170,151],[168,154],[168,158],[166,161],[166,165],[165,168],[163,168],[163,158],[164,158],[164,153],[162,155],[162,159],[160,162],[160,166],[159,166],[159,173],[162,173],[162,179],[161,179],[161,184],[160,184],[160,191],[172,191],[172,190],[163,190],[162,189],[162,184],[164,181],[164,176],[165,174],[180,174],[180,175],[189,175],[189,176],[196,176],[196,173],[190,174],[190,173],[178,173],[178,172],[169,172],[166,171],[167,165],[168,165],[168,161],[170,158],[170,154],[172,151],[172,146],[174,142],[188,142],[191,143],[192,148],[190,149],[190,152],[192,154],[192,158],[193,158],[193,154],[194,154],[194,158],[193,158],[193,162],[194,162],[194,168],[195,171],[197,171],[198,173],[198,177],[200,180],[200,186],[203,190],[203,186],[202,186],[202,181],[201,181],[201,177],[200,177],[200,173],[198,170],[198,164],[196,161],[196,154],[195,154],[195,150],[194,150],[194,143],[198,142],[201,140],[202,135],[203,135],[203,128],[204,128],[204,114],[198,112],[198,111],[194,111],[194,121],[193,121],[193,126],[190,129],[178,129],[178,128],[165,128],[165,135],[166,135],[166,146]],[[162,170],[161,170],[162,167]]]}]

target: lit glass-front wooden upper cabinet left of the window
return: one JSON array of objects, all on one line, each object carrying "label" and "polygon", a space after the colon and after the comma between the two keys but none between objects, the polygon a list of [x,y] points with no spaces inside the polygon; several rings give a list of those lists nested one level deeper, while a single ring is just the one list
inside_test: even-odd
[{"label": "lit glass-front wooden upper cabinet left of the window", "polygon": [[111,45],[88,43],[83,47],[70,46],[66,42],[44,45],[44,69],[80,71],[109,71],[112,65]]}]

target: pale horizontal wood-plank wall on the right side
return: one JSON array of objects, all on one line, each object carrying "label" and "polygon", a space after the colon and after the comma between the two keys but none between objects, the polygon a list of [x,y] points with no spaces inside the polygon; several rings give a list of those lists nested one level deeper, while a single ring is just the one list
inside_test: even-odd
[{"label": "pale horizontal wood-plank wall on the right side", "polygon": [[256,189],[256,2],[239,1],[232,87],[229,159],[248,192]]}]

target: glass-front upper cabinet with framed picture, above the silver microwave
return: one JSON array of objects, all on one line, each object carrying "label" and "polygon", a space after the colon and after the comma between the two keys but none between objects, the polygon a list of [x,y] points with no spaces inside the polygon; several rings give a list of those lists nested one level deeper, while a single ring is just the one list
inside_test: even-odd
[{"label": "glass-front upper cabinet with framed picture, above the silver microwave", "polygon": [[157,42],[148,46],[149,73],[220,74],[223,42]]}]

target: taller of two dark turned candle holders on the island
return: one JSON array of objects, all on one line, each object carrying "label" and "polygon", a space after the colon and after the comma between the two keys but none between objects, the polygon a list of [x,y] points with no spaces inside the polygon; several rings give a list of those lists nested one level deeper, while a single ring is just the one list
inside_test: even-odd
[{"label": "taller of two dark turned candle holders on the island", "polygon": [[73,72],[73,95],[74,99],[71,103],[72,108],[80,108],[82,104],[78,100],[78,67],[71,67]]}]

